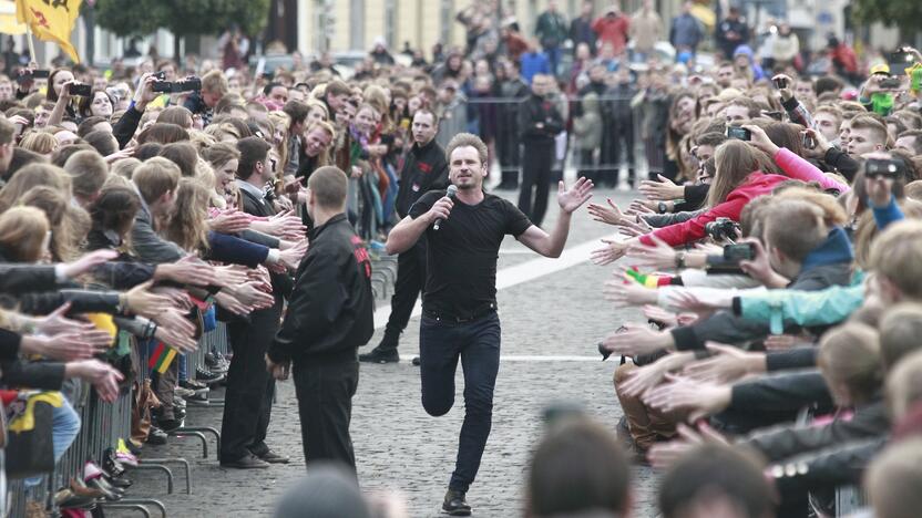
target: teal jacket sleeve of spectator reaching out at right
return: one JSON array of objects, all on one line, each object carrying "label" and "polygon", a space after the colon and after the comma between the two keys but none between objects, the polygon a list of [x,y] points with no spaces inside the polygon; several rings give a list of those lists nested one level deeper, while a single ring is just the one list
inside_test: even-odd
[{"label": "teal jacket sleeve of spectator reaching out at right", "polygon": [[746,320],[768,322],[771,334],[793,325],[831,325],[849,318],[864,303],[864,272],[856,271],[849,286],[821,291],[769,290],[734,298],[734,312]]}]

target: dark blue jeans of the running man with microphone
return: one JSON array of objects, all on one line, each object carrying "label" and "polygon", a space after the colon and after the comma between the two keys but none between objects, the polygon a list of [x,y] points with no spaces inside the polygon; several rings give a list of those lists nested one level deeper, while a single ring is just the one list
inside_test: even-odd
[{"label": "dark blue jeans of the running man with microphone", "polygon": [[458,459],[449,487],[467,491],[480,468],[480,458],[493,423],[493,387],[500,370],[500,318],[491,312],[467,323],[423,315],[419,330],[422,406],[440,416],[454,405],[458,358],[464,371],[464,424]]}]

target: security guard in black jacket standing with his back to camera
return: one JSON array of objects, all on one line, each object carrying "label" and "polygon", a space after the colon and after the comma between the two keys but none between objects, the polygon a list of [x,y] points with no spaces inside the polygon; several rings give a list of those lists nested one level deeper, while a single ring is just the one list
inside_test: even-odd
[{"label": "security guard in black jacket standing with his back to camera", "polygon": [[375,332],[371,262],[346,218],[346,174],[320,167],[307,186],[316,227],[266,366],[273,377],[285,380],[294,362],[308,466],[338,460],[355,469],[349,421],[359,383],[358,348]]}]

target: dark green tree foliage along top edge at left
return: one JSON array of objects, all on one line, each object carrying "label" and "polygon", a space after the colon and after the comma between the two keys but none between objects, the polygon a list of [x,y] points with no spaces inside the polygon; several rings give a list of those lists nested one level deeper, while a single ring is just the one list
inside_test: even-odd
[{"label": "dark green tree foliage along top edge at left", "polygon": [[266,25],[272,0],[98,0],[96,23],[120,37],[157,29],[174,34],[218,34],[237,24],[250,35]]}]

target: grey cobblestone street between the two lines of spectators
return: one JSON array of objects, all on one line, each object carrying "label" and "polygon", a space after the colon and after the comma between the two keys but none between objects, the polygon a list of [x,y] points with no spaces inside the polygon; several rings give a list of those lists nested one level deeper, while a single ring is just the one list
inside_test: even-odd
[{"label": "grey cobblestone street between the two lines of spectators", "polygon": [[[501,194],[514,196],[509,191]],[[627,200],[625,194],[612,190],[598,190],[594,200],[604,203],[606,195],[617,201]],[[545,221],[549,228],[556,220],[557,208],[553,199],[550,206]],[[595,343],[638,313],[614,310],[603,300],[602,283],[611,269],[586,260],[588,250],[597,248],[597,239],[611,235],[608,228],[592,221],[585,207],[581,208],[573,218],[567,250],[560,259],[568,261],[567,266],[557,271],[547,271],[546,262],[537,260],[514,239],[504,241],[499,262],[500,284],[505,286],[499,291],[503,358],[493,428],[478,479],[468,494],[477,517],[521,516],[527,459],[541,436],[541,415],[549,403],[583,405],[615,428],[621,416],[612,386],[617,359],[601,362]],[[510,270],[515,266],[520,268]],[[377,307],[389,308],[389,301],[379,299]],[[382,324],[378,324],[365,350],[377,344]],[[418,328],[419,318],[413,318],[401,341],[401,363],[361,365],[351,434],[362,488],[400,493],[408,501],[410,516],[434,517],[440,516],[441,499],[454,466],[464,414],[463,383],[459,365],[452,411],[440,418],[426,414],[420,404],[419,370],[409,362],[418,351]],[[219,397],[221,391],[215,396]],[[219,428],[221,412],[219,406],[189,407],[187,424]],[[177,469],[173,495],[165,495],[163,475],[155,472],[136,472],[132,493],[161,499],[171,517],[267,516],[305,469],[290,381],[278,387],[268,443],[289,455],[291,464],[267,470],[225,470],[215,459],[213,439],[207,459],[202,458],[199,442],[192,437],[172,438],[164,447],[145,447],[146,457],[182,456],[193,464],[192,495],[184,494],[183,475]],[[635,475],[634,516],[656,516],[654,475],[649,468],[636,468]]]}]

